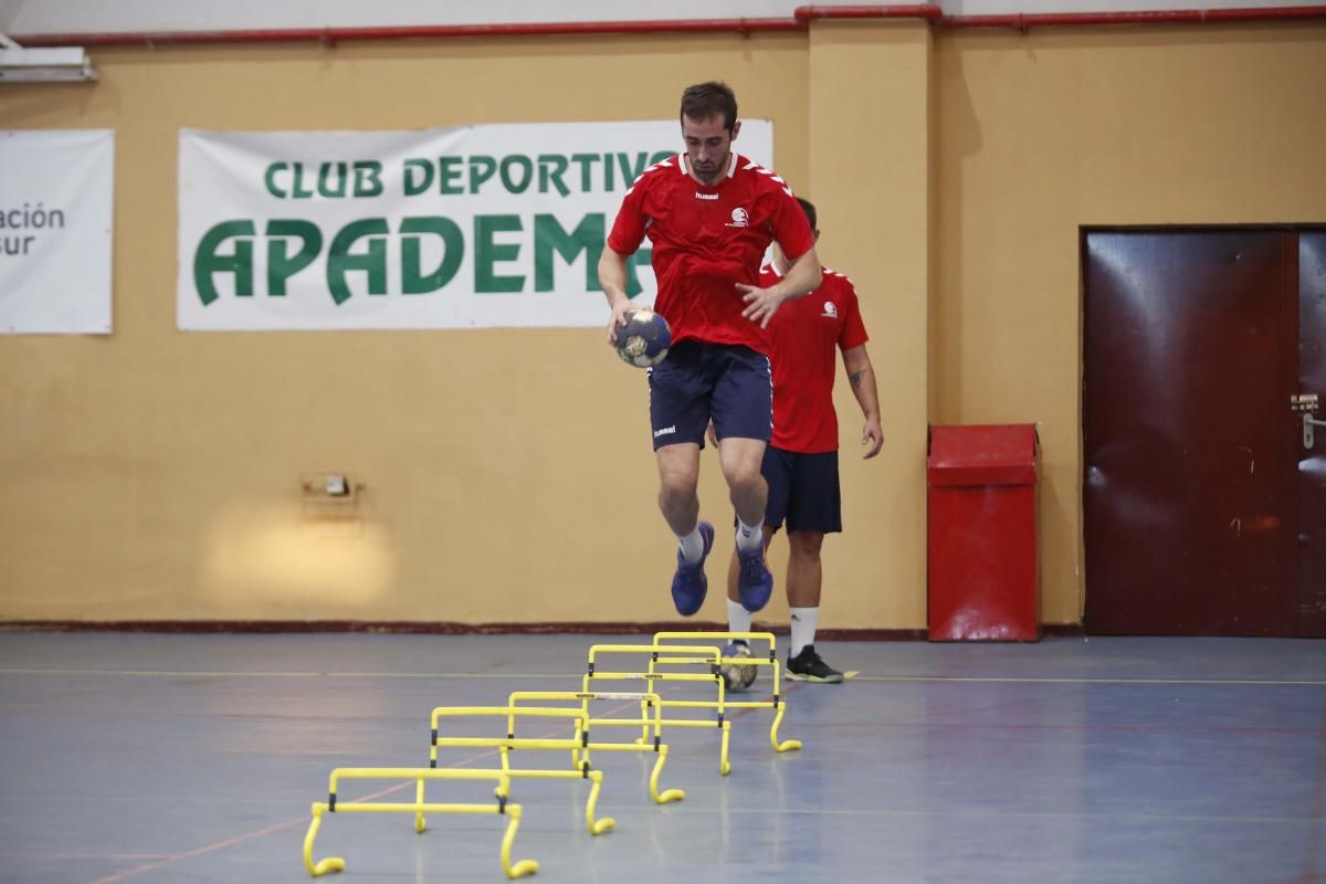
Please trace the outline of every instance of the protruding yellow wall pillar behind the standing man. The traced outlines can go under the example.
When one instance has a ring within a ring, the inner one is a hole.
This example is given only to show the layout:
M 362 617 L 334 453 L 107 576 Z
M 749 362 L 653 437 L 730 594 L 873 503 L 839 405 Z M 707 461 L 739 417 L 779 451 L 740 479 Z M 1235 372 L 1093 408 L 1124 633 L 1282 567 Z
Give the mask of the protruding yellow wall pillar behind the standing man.
M 849 606 L 845 626 L 926 623 L 930 53 L 924 23 L 810 32 L 818 253 L 857 286 L 884 429 L 883 453 L 862 461 L 861 410 L 838 384 L 846 533 L 825 542 L 823 598 L 826 615 Z

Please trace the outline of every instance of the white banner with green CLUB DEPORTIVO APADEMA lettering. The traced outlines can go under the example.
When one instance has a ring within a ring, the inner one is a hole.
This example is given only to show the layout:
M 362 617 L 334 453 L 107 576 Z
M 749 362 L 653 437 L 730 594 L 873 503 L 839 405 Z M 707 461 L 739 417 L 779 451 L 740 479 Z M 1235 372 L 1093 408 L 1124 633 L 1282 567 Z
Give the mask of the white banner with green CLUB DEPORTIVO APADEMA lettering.
M 773 156 L 773 123 L 739 152 Z M 179 326 L 597 326 L 626 188 L 678 122 L 399 133 L 180 131 Z M 633 297 L 654 300 L 646 243 Z

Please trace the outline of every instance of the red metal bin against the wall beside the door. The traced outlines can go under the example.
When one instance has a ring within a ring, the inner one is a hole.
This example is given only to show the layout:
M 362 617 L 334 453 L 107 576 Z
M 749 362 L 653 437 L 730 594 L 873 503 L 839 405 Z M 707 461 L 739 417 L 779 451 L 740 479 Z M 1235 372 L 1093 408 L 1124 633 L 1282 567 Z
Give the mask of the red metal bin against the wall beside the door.
M 931 641 L 1037 641 L 1036 424 L 931 427 Z

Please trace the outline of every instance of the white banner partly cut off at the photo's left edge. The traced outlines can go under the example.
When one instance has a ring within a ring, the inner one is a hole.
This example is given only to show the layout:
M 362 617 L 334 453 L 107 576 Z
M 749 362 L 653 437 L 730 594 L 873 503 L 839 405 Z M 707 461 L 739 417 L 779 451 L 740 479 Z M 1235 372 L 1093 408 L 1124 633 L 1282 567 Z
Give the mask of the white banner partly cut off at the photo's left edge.
M 0 131 L 0 333 L 110 334 L 115 133 Z

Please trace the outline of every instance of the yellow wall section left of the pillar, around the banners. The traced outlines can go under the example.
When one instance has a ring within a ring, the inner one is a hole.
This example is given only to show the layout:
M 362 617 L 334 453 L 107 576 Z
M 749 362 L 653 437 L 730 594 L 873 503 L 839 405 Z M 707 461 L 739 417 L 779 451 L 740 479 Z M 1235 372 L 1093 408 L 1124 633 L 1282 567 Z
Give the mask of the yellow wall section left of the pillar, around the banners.
M 643 372 L 593 329 L 176 331 L 178 130 L 668 119 L 682 87 L 720 77 L 744 115 L 776 121 L 796 182 L 804 36 L 106 50 L 95 64 L 94 86 L 0 93 L 0 127 L 117 130 L 115 334 L 0 339 L 0 616 L 676 616 Z M 715 467 L 705 512 L 721 522 Z M 366 482 L 362 520 L 304 518 L 306 470 Z M 725 615 L 721 594 L 704 615 Z

